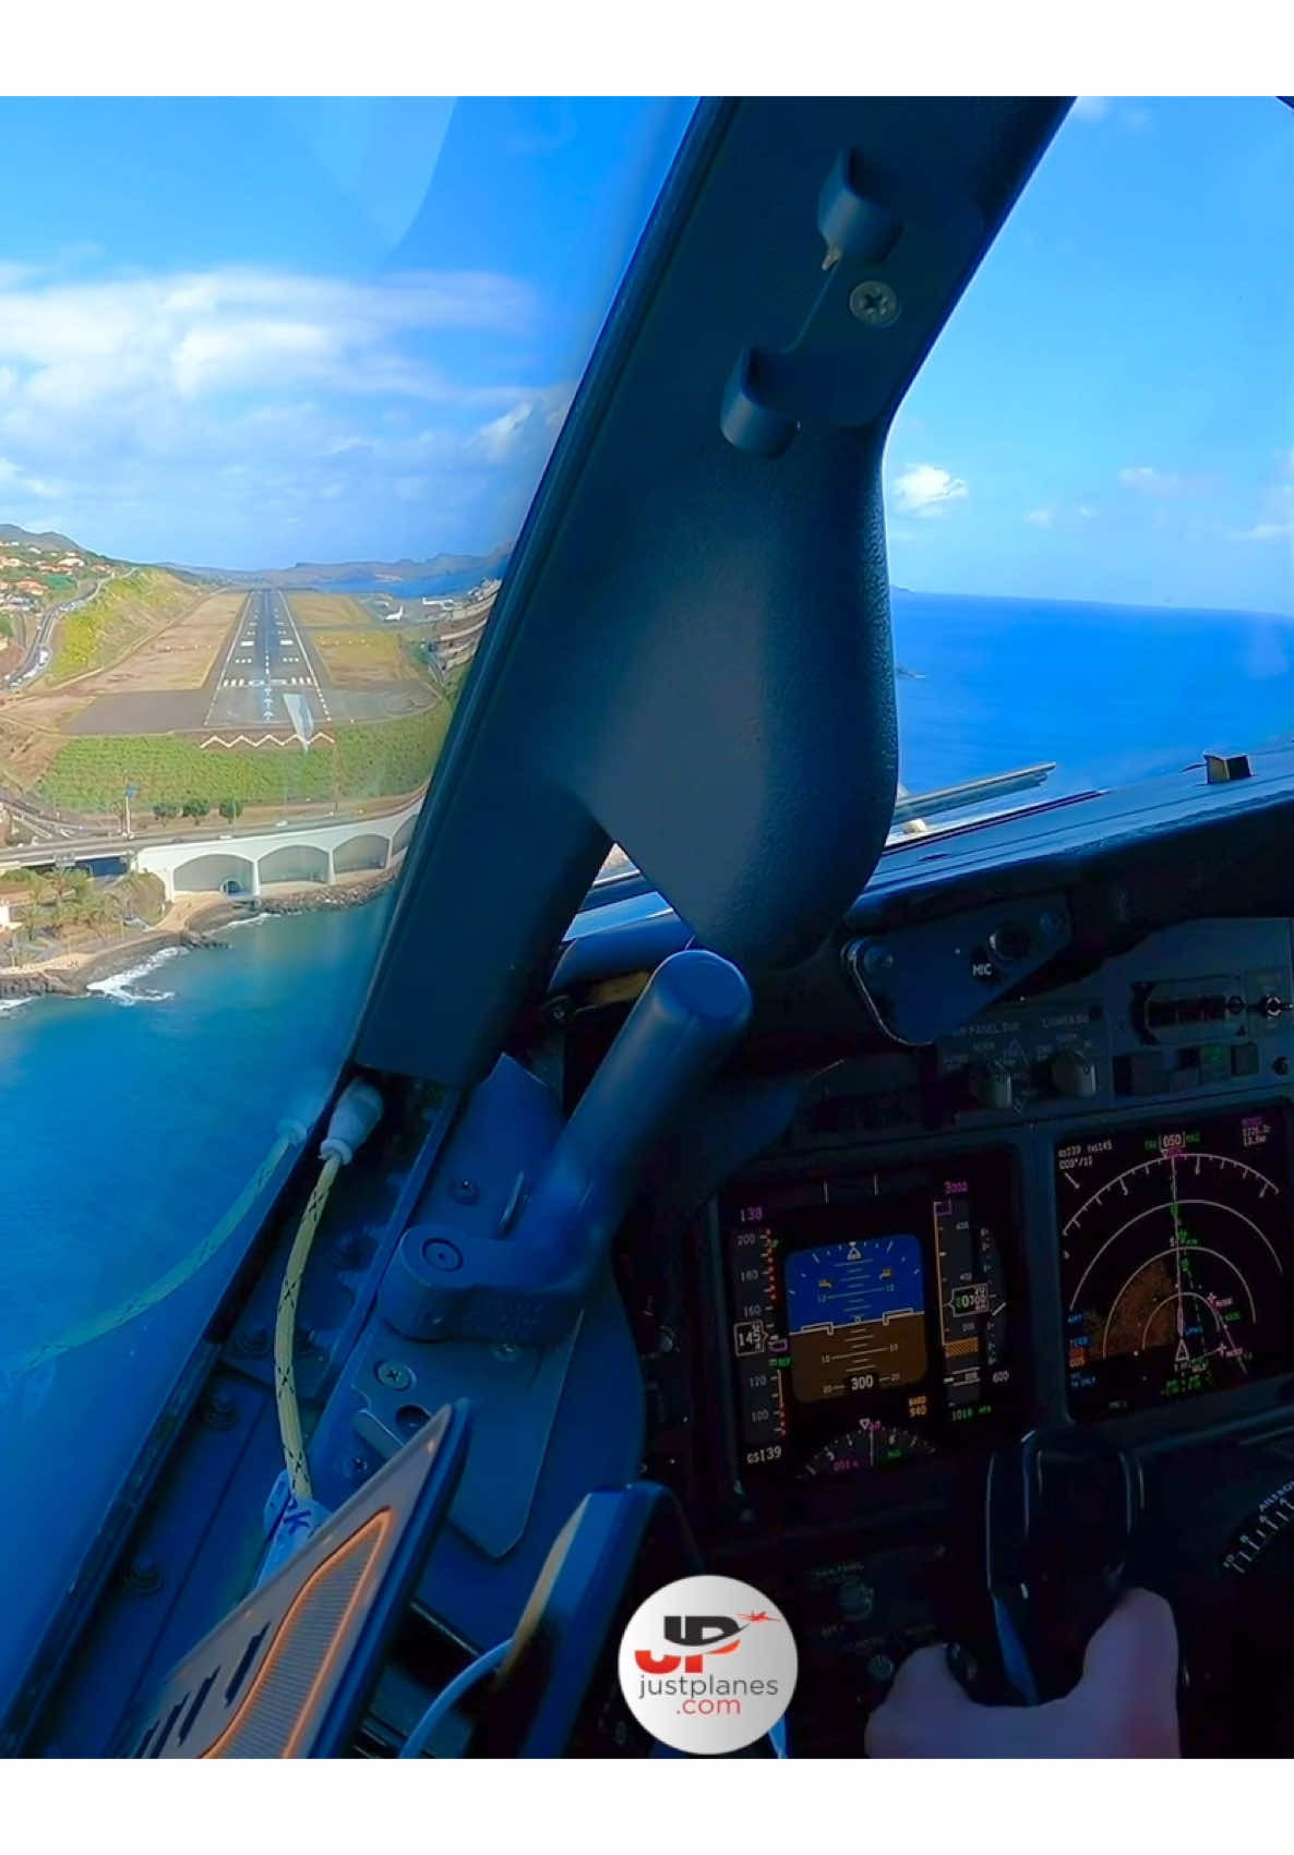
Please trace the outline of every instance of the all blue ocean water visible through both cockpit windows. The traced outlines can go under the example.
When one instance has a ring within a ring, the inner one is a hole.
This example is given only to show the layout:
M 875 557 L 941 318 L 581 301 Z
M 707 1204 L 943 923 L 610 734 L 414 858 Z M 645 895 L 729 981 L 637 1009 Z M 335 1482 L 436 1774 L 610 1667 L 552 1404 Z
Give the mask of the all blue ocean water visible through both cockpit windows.
M 910 790 L 1056 761 L 1049 792 L 1294 731 L 1294 620 L 893 597 Z M 91 1000 L 0 1011 L 0 1695 L 72 1577 L 234 1263 L 58 1356 L 147 1291 L 342 1063 L 392 896 L 264 918 Z

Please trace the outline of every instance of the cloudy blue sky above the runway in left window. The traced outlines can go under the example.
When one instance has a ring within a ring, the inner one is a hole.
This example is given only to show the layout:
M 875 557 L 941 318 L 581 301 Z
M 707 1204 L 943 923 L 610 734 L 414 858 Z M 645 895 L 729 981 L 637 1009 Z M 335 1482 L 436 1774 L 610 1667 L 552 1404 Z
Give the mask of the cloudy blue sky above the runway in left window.
M 689 115 L 6 102 L 0 521 L 245 568 L 511 540 Z

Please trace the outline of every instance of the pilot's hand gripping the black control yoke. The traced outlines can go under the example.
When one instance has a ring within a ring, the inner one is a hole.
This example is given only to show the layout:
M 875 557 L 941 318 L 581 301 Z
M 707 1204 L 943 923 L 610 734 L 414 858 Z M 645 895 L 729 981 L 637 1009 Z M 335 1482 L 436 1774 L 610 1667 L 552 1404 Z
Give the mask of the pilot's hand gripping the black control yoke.
M 941 1645 L 917 1649 L 867 1723 L 873 1759 L 1179 1759 L 1177 1629 L 1127 1592 L 1088 1644 L 1082 1679 L 1043 1707 L 978 1707 Z

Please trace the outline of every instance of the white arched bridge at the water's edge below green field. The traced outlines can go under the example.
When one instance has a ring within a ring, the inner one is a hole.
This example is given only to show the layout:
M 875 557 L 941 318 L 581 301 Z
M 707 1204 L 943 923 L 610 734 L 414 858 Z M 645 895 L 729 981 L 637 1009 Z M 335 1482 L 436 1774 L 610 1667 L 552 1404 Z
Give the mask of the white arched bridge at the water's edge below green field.
M 293 820 L 275 831 L 139 844 L 132 861 L 137 870 L 162 877 L 167 902 L 210 890 L 258 896 L 271 883 L 338 883 L 368 870 L 386 870 L 405 855 L 416 822 L 418 803 L 390 818 L 351 818 L 345 824 Z

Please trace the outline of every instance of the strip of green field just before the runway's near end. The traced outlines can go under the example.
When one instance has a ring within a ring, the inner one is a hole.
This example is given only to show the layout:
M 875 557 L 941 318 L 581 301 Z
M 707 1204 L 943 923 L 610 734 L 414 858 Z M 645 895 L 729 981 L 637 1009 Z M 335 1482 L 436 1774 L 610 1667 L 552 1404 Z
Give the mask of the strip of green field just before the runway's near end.
M 241 800 L 290 805 L 308 800 L 399 798 L 431 775 L 449 707 L 436 703 L 397 722 L 342 723 L 336 746 L 199 748 L 176 735 L 87 735 L 69 740 L 37 792 L 63 811 L 115 812 L 128 785 L 136 811 L 149 805 Z

